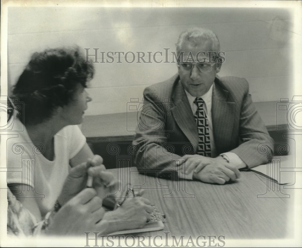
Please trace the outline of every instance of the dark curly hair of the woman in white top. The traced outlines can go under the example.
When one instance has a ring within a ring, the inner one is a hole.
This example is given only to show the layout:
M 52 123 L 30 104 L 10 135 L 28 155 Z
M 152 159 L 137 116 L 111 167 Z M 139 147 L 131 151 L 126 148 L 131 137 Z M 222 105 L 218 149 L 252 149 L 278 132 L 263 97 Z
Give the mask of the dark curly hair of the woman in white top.
M 79 47 L 35 52 L 13 89 L 13 97 L 24 102 L 23 124 L 39 124 L 49 119 L 56 108 L 72 101 L 80 83 L 92 79 L 94 67 Z

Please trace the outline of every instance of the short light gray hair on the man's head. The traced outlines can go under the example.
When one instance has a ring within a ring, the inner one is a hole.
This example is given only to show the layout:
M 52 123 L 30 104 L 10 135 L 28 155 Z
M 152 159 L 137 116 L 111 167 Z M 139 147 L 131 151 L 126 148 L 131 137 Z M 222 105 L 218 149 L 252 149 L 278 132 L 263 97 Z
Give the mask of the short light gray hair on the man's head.
M 193 44 L 198 45 L 203 40 L 210 40 L 212 43 L 211 51 L 219 52 L 220 43 L 217 35 L 212 30 L 200 27 L 193 27 L 182 32 L 179 35 L 178 41 L 175 44 L 177 55 L 179 55 L 179 53 L 181 52 L 182 44 L 184 42 L 192 42 Z

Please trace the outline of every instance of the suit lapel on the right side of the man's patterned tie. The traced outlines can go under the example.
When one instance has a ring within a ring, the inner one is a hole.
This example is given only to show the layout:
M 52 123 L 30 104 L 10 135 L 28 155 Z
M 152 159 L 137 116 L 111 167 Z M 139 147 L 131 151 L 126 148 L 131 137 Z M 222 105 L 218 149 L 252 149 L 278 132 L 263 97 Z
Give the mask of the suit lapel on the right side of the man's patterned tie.
M 213 134 L 217 152 L 223 147 L 229 147 L 234 125 L 235 102 L 228 102 L 229 92 L 220 86 L 220 80 L 215 78 L 212 95 Z

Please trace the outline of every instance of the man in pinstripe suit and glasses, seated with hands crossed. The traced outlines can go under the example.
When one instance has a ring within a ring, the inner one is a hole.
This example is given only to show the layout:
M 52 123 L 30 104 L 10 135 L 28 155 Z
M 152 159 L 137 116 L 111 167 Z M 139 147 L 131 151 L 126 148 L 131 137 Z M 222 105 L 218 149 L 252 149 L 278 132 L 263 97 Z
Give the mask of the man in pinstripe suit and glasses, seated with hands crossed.
M 273 140 L 247 81 L 217 76 L 217 36 L 192 28 L 181 33 L 176 52 L 178 74 L 144 90 L 133 140 L 140 147 L 134 158 L 138 170 L 225 184 L 239 177 L 239 169 L 265 163 L 257 147 Z

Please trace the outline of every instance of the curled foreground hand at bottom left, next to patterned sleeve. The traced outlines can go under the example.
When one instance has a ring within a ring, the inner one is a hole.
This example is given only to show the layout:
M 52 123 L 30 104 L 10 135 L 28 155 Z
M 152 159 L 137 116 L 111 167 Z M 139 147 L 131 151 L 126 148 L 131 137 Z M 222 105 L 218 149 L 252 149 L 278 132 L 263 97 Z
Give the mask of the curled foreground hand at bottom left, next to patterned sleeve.
M 84 235 L 84 232 L 101 232 L 104 226 L 102 200 L 92 188 L 86 188 L 70 199 L 50 219 L 48 235 Z

